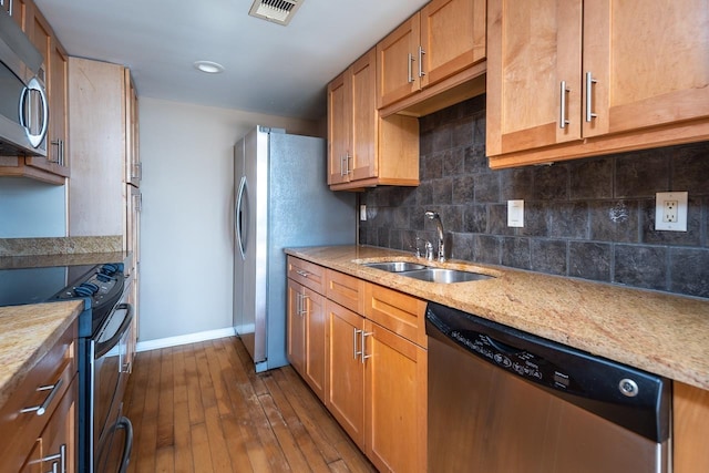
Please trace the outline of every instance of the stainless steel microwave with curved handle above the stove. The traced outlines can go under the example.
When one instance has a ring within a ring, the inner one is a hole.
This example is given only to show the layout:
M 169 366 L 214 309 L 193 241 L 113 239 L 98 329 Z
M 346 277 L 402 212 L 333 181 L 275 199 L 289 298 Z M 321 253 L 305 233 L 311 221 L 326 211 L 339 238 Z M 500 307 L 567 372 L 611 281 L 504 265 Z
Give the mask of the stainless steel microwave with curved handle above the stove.
M 47 156 L 42 61 L 14 20 L 0 11 L 0 155 Z

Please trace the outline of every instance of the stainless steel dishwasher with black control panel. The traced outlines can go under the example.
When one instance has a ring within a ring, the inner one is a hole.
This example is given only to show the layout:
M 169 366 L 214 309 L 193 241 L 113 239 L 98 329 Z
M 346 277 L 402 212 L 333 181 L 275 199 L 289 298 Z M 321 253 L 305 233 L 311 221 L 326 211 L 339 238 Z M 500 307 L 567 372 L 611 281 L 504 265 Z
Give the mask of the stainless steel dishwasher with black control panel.
M 670 472 L 670 382 L 430 302 L 429 469 Z

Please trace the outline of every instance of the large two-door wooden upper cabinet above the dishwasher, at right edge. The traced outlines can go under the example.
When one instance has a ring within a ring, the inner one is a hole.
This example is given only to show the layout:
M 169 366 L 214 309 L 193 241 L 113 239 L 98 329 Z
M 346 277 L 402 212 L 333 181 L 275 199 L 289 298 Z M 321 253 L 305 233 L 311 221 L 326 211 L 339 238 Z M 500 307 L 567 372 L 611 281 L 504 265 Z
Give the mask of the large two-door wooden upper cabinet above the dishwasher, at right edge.
M 707 0 L 487 8 L 491 167 L 709 137 Z

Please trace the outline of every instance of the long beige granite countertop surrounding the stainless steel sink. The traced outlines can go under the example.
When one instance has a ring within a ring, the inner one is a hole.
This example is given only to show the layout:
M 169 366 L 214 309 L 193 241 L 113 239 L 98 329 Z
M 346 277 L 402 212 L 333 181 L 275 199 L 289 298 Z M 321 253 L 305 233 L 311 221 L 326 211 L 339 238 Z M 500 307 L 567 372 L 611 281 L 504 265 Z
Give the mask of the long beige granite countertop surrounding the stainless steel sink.
M 467 261 L 428 266 L 474 269 L 492 279 L 425 282 L 359 263 L 418 261 L 411 253 L 368 246 L 288 248 L 308 261 L 454 307 L 656 374 L 709 389 L 709 300 Z

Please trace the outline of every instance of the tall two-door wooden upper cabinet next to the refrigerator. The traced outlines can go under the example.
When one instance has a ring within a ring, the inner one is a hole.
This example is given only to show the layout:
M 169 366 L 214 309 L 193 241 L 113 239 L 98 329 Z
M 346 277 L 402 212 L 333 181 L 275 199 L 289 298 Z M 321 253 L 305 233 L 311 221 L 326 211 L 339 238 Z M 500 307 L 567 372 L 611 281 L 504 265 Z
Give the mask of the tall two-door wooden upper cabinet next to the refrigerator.
M 371 49 L 328 84 L 328 184 L 333 191 L 419 184 L 419 122 L 381 119 Z

